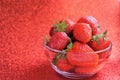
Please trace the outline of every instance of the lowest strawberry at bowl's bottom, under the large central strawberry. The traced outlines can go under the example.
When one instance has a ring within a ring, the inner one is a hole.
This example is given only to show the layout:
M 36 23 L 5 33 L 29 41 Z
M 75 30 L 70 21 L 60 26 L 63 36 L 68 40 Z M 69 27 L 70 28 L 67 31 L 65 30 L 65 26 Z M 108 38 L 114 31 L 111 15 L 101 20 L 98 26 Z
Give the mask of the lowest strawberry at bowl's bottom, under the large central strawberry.
M 76 67 L 74 72 L 78 74 L 91 74 L 96 72 L 97 67 Z

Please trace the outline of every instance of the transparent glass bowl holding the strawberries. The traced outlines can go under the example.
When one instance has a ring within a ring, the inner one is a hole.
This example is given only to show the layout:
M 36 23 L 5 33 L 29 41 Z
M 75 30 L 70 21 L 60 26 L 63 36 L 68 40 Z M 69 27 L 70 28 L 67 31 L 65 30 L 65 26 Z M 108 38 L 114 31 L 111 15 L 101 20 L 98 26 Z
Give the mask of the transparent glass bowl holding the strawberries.
M 49 46 L 47 46 L 46 44 L 44 44 L 44 46 L 50 50 L 50 51 L 53 51 L 55 52 L 56 54 L 57 53 L 61 53 L 61 54 L 64 54 L 65 52 L 62 52 L 62 51 L 59 51 L 59 50 L 55 50 L 55 49 L 52 49 L 50 48 Z M 93 76 L 94 74 L 96 74 L 99 70 L 102 69 L 102 67 L 105 65 L 105 63 L 107 62 L 110 54 L 111 54 L 111 50 L 112 50 L 112 43 L 110 43 L 110 45 L 106 48 L 106 49 L 103 49 L 103 50 L 100 50 L 100 51 L 95 51 L 94 53 L 95 54 L 98 54 L 99 55 L 99 61 L 98 61 L 98 64 L 97 66 L 92 69 L 89 73 L 86 73 L 86 74 L 78 74 L 78 73 L 73 73 L 73 72 L 66 72 L 66 71 L 62 71 L 60 70 L 59 68 L 57 68 L 57 66 L 55 66 L 53 63 L 52 63 L 52 58 L 50 58 L 50 54 L 49 53 L 46 53 L 47 56 L 48 56 L 48 60 L 50 61 L 51 63 L 51 67 L 60 75 L 66 77 L 66 78 L 70 78 L 70 79 L 85 79 L 85 78 L 88 78 L 90 76 Z

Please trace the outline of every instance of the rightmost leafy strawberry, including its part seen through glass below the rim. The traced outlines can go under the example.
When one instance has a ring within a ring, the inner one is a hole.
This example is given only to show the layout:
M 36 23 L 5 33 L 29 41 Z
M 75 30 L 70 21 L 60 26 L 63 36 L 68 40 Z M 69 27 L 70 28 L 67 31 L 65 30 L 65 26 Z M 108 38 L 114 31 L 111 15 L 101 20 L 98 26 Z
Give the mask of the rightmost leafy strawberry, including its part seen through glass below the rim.
M 92 40 L 88 43 L 92 49 L 95 51 L 103 50 L 110 46 L 110 40 L 108 40 L 106 36 L 107 32 L 102 34 L 98 34 L 92 37 Z M 101 52 L 98 54 L 100 59 L 104 59 L 110 55 L 110 50 Z

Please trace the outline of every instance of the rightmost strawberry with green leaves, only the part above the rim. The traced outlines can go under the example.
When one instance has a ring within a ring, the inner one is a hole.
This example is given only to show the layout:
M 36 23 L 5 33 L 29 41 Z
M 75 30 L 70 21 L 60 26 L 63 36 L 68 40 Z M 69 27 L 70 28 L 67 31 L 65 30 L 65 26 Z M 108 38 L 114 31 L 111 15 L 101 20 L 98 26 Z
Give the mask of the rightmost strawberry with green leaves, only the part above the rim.
M 107 32 L 93 36 L 92 40 L 89 42 L 89 45 L 95 50 L 102 50 L 107 48 L 110 45 L 110 41 L 105 38 Z

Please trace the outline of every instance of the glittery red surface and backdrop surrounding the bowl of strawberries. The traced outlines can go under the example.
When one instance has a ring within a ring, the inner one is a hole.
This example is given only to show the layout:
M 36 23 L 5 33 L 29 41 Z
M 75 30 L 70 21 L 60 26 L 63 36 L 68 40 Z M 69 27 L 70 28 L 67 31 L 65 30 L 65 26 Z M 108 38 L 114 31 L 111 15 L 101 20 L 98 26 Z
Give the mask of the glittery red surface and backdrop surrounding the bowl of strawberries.
M 43 47 L 54 20 L 92 15 L 113 43 L 109 62 L 86 80 L 120 80 L 118 0 L 0 0 L 0 80 L 69 80 L 49 65 Z

